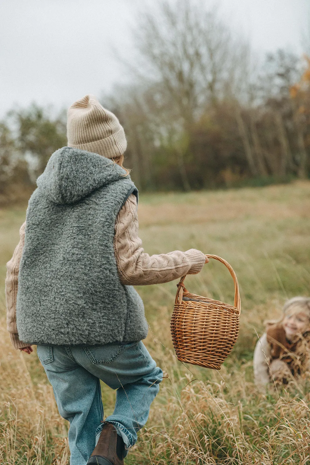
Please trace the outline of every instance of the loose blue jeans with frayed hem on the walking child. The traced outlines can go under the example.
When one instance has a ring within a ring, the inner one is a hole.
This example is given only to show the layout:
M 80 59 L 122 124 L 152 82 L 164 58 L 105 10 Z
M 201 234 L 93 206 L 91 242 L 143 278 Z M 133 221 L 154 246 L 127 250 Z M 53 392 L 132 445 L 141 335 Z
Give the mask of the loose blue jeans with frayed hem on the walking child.
M 163 372 L 144 344 L 38 345 L 60 415 L 70 422 L 70 465 L 85 465 L 103 427 L 100 379 L 117 389 L 112 423 L 128 450 L 145 425 Z

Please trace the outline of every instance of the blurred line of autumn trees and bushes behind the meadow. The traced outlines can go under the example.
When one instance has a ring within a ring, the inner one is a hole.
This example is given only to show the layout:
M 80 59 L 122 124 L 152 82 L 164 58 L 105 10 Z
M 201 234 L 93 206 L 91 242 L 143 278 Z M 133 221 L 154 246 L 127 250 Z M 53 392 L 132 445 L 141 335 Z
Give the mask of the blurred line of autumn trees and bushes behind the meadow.
M 142 191 L 263 185 L 310 172 L 310 58 L 251 47 L 194 0 L 140 14 L 131 82 L 102 97 L 125 128 L 126 166 Z M 35 104 L 0 122 L 0 202 L 28 198 L 66 113 Z

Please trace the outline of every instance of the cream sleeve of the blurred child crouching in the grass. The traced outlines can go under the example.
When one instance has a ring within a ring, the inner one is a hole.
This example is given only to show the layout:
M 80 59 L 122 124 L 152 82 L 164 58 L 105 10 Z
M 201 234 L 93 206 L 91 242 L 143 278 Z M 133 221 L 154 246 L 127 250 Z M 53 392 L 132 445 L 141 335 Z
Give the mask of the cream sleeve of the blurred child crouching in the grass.
M 267 334 L 257 341 L 253 355 L 254 381 L 257 387 L 263 388 L 270 382 L 268 369 L 270 359 L 270 344 L 267 342 Z

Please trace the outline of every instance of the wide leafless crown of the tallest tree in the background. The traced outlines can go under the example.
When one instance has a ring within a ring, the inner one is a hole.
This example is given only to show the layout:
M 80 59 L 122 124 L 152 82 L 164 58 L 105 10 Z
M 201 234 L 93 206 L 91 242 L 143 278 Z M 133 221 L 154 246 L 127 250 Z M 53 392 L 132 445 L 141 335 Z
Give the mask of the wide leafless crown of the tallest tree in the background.
M 216 8 L 189 0 L 162 0 L 156 13 L 141 14 L 134 38 L 140 70 L 162 83 L 187 124 L 224 95 L 247 48 L 233 38 Z

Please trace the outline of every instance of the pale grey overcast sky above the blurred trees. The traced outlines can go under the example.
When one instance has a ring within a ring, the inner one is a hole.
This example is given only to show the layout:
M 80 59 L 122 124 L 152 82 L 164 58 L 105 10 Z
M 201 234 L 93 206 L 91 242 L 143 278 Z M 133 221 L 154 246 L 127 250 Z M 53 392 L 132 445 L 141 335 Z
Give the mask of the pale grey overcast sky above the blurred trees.
M 171 0 L 173 1 L 173 0 Z M 156 0 L 0 0 L 0 117 L 13 106 L 69 106 L 126 79 L 135 14 Z M 205 0 L 206 5 L 214 1 Z M 261 53 L 302 53 L 309 0 L 222 0 L 220 10 Z

